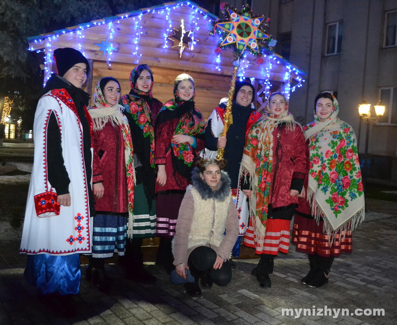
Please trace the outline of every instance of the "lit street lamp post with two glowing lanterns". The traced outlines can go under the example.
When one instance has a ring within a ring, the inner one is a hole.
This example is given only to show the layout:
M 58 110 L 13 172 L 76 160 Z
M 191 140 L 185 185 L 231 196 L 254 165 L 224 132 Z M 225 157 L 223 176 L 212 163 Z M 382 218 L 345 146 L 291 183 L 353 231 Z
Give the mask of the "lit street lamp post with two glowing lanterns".
M 362 174 L 364 192 L 366 191 L 367 169 L 368 169 L 369 125 L 370 124 L 375 125 L 380 120 L 383 114 L 385 114 L 386 107 L 385 105 L 382 105 L 381 101 L 379 101 L 377 105 L 374 105 L 374 109 L 376 116 L 371 117 L 371 104 L 368 104 L 365 98 L 363 102 L 360 105 L 358 105 L 358 114 L 360 114 L 358 143 L 360 143 L 361 121 L 364 121 L 364 123 L 367 125 L 367 129 L 365 132 L 364 172 Z

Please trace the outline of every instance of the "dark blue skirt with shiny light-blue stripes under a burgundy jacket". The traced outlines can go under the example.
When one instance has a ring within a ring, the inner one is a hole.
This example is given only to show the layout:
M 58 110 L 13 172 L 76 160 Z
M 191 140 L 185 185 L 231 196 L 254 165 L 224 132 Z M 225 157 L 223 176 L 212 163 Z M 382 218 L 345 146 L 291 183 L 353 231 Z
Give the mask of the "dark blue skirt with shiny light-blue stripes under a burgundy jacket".
M 120 215 L 97 214 L 93 217 L 92 257 L 123 256 L 126 251 L 127 218 Z

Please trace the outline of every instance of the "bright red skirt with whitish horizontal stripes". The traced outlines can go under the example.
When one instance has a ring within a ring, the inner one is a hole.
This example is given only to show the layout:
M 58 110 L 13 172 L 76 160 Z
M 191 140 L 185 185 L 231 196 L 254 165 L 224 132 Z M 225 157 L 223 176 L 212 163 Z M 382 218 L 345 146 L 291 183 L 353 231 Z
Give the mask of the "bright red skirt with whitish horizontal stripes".
M 267 219 L 264 244 L 257 241 L 257 234 L 252 224 L 252 218 L 248 225 L 243 244 L 255 248 L 256 254 L 277 255 L 278 252 L 287 254 L 290 240 L 290 221 L 281 219 Z

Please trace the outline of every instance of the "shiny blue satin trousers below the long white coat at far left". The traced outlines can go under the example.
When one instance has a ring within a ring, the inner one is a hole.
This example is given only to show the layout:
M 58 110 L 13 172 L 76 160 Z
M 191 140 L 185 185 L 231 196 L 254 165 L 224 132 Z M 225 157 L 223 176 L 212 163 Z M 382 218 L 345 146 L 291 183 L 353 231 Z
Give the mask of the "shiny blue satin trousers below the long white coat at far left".
M 80 289 L 80 254 L 28 255 L 25 277 L 39 294 L 77 294 Z

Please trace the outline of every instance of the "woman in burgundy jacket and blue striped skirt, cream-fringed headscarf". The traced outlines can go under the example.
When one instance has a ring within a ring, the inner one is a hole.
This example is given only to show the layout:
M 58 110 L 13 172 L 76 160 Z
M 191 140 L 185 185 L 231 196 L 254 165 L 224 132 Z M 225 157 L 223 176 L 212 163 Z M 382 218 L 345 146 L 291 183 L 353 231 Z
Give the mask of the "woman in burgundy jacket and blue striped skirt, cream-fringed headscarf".
M 93 217 L 92 256 L 86 270 L 99 290 L 107 291 L 104 259 L 113 253 L 123 256 L 127 239 L 127 216 L 132 216 L 134 170 L 132 139 L 127 118 L 122 114 L 120 83 L 102 78 L 95 87 L 94 105 L 88 112 L 93 125 Z

